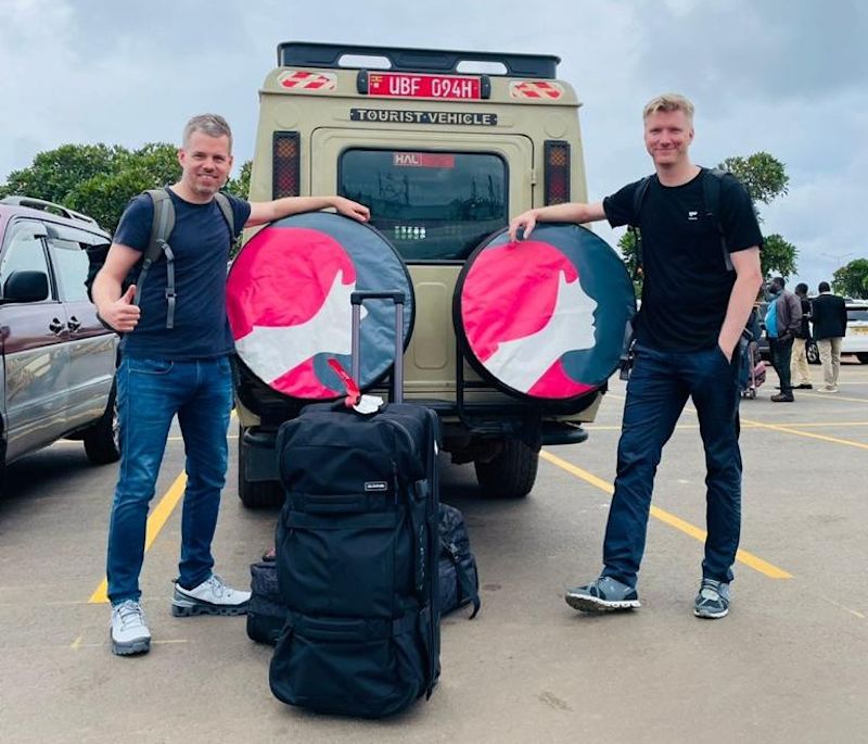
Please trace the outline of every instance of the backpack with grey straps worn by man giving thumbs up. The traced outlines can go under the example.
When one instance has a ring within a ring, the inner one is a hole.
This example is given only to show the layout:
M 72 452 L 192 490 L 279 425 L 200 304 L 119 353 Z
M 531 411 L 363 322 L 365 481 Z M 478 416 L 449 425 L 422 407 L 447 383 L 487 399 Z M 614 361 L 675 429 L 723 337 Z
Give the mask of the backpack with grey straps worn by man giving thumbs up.
M 132 270 L 127 275 L 127 278 L 120 285 L 122 294 L 127 291 L 130 285 L 136 285 L 136 297 L 132 304 L 138 306 L 142 297 L 142 286 L 148 277 L 148 272 L 159 256 L 166 257 L 166 302 L 168 308 L 166 311 L 166 328 L 175 328 L 175 306 L 178 295 L 175 293 L 175 253 L 168 243 L 169 236 L 175 229 L 175 205 L 171 203 L 167 189 L 149 189 L 145 193 L 151 198 L 154 204 L 154 217 L 151 220 L 151 238 L 148 248 L 144 250 L 141 260 L 132 267 Z M 217 206 L 220 207 L 220 213 L 224 215 L 227 225 L 229 226 L 229 239 L 234 240 L 234 214 L 232 213 L 232 205 L 226 194 L 219 191 L 214 194 Z M 105 258 L 108 256 L 110 244 L 103 243 L 102 245 L 91 245 L 87 249 L 88 252 L 88 276 L 85 279 L 85 287 L 88 290 L 88 299 L 93 302 L 91 290 L 93 288 L 93 280 L 97 278 L 100 269 L 105 264 Z M 102 323 L 102 319 L 100 320 Z M 103 325 L 105 325 L 103 323 Z M 107 327 L 107 326 L 106 326 Z

